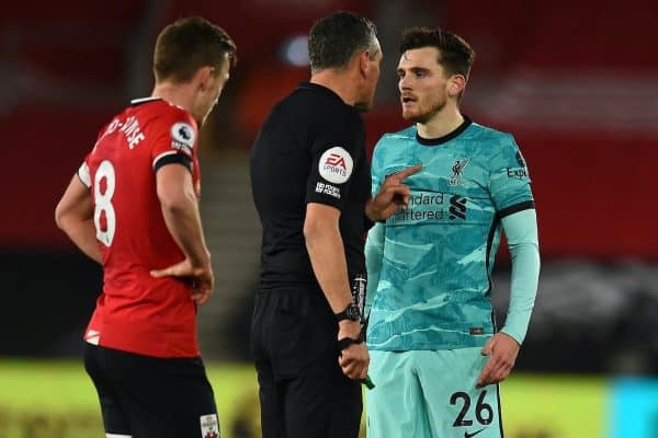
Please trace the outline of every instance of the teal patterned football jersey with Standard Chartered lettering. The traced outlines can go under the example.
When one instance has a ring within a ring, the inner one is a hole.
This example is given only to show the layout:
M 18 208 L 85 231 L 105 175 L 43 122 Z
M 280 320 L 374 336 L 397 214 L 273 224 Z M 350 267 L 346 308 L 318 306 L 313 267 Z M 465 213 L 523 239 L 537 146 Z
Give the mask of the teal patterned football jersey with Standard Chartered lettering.
M 534 208 L 525 161 L 511 135 L 469 119 L 433 140 L 412 126 L 377 142 L 373 194 L 387 175 L 418 163 L 422 170 L 405 180 L 408 209 L 386 221 L 378 281 L 368 285 L 368 348 L 483 346 L 495 331 L 500 220 Z

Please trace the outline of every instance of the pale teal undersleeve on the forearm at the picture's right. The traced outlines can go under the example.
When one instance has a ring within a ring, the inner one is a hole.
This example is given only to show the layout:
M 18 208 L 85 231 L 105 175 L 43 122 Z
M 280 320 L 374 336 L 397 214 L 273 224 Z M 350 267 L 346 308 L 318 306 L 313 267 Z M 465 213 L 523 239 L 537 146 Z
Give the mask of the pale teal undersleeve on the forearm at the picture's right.
M 502 218 L 502 229 L 512 258 L 510 307 L 501 332 L 523 343 L 534 307 L 540 280 L 540 243 L 534 209 Z

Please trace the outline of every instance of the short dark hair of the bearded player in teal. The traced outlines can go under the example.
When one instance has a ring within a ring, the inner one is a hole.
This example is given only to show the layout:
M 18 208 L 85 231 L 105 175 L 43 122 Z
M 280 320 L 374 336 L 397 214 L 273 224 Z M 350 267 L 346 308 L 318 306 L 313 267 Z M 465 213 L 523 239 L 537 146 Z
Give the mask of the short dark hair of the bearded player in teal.
M 402 33 L 400 54 L 413 48 L 435 47 L 436 60 L 449 76 L 462 74 L 468 79 L 475 51 L 460 35 L 440 27 L 410 27 Z

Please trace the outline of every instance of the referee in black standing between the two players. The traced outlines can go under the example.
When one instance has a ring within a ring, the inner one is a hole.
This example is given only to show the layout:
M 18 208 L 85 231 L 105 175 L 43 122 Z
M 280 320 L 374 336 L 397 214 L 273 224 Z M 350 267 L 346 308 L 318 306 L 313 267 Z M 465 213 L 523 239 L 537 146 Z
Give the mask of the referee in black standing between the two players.
M 263 228 L 251 326 L 263 438 L 359 435 L 370 356 L 351 287 L 365 278 L 371 221 L 406 207 L 401 181 L 420 169 L 389 177 L 370 199 L 360 112 L 379 78 L 374 24 L 327 15 L 310 30 L 308 51 L 310 81 L 274 106 L 251 153 Z

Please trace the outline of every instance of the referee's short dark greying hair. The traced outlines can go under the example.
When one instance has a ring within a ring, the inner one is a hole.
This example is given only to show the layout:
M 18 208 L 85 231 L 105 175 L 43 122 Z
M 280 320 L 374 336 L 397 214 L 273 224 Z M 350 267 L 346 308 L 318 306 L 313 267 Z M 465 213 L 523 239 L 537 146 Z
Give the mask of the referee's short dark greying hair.
M 358 51 L 370 51 L 374 59 L 379 46 L 377 30 L 368 19 L 338 11 L 318 20 L 308 35 L 310 71 L 347 67 Z

